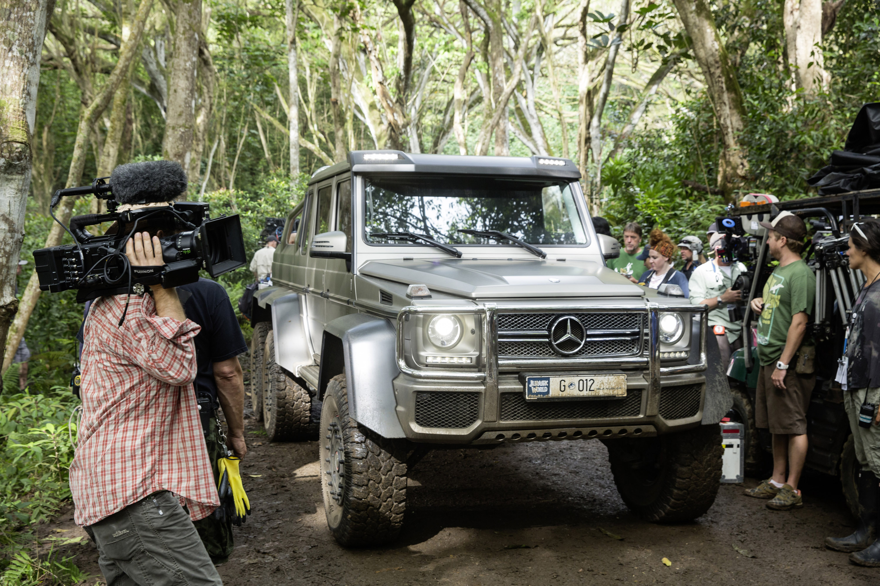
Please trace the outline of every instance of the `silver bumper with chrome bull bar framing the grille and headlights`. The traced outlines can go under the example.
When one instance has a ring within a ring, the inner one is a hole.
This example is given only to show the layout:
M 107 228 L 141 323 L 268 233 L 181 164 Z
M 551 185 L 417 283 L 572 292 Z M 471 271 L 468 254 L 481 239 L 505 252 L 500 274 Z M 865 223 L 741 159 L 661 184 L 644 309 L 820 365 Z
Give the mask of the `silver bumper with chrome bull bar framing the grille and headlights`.
M 547 307 L 505 307 L 522 312 Z M 705 306 L 646 302 L 641 307 L 566 307 L 566 311 L 647 314 L 644 349 L 619 358 L 497 358 L 497 308 L 487 303 L 471 312 L 483 315 L 485 368 L 482 372 L 417 370 L 405 356 L 407 315 L 464 313 L 460 307 L 405 307 L 398 321 L 398 365 L 394 380 L 397 416 L 407 438 L 441 444 L 494 444 L 541 439 L 645 437 L 700 424 L 706 396 Z M 699 315 L 693 320 L 691 360 L 663 366 L 657 322 L 662 311 Z M 699 328 L 698 323 L 699 322 Z M 699 333 L 698 333 L 699 332 Z M 627 398 L 570 402 L 525 402 L 520 372 L 625 373 Z

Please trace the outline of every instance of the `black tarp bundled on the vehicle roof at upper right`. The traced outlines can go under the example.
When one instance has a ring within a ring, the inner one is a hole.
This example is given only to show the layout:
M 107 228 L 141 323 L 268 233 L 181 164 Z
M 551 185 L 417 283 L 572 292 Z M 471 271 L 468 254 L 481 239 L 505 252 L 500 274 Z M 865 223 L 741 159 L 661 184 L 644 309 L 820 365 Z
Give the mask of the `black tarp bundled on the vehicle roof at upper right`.
M 843 150 L 833 151 L 829 164 L 807 183 L 817 187 L 819 195 L 880 187 L 880 102 L 862 106 Z

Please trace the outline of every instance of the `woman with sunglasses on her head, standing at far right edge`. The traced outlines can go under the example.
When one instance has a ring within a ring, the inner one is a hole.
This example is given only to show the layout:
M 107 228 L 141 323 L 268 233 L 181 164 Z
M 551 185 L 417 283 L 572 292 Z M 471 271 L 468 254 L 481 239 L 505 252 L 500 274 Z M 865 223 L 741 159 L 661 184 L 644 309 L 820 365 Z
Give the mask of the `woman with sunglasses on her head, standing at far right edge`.
M 853 552 L 849 559 L 860 566 L 880 567 L 880 221 L 856 222 L 849 236 L 849 267 L 866 281 L 853 305 L 837 381 L 861 465 L 860 517 L 852 535 L 825 538 L 825 546 Z

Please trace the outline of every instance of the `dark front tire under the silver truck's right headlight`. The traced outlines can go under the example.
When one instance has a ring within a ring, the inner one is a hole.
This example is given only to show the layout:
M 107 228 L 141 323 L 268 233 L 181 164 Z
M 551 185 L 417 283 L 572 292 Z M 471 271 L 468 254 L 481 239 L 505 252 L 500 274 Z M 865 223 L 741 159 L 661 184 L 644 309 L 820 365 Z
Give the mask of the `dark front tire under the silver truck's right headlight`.
M 700 425 L 693 430 L 673 433 L 667 442 L 666 469 L 659 494 L 652 503 L 634 503 L 627 496 L 627 473 L 621 470 L 609 451 L 614 483 L 623 502 L 642 518 L 655 523 L 678 523 L 700 517 L 715 503 L 721 483 L 721 428 Z M 613 440 L 612 440 L 613 441 Z

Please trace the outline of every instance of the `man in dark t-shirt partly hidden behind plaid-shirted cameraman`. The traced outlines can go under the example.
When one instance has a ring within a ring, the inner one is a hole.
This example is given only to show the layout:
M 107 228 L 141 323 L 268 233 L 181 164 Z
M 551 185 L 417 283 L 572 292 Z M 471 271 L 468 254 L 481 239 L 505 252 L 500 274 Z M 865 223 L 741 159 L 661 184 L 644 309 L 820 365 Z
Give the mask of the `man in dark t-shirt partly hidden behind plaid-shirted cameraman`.
M 217 459 L 223 458 L 220 438 L 216 434 L 216 409 L 223 409 L 226 418 L 226 445 L 239 458 L 247 452 L 245 445 L 245 382 L 238 355 L 247 351 L 229 295 L 223 286 L 209 279 L 177 288 L 180 304 L 187 318 L 202 326 L 194 337 L 198 373 L 194 387 L 201 408 L 205 445 L 219 480 Z M 220 521 L 213 515 L 195 521 L 195 528 L 215 564 L 223 563 L 232 553 L 231 520 Z

